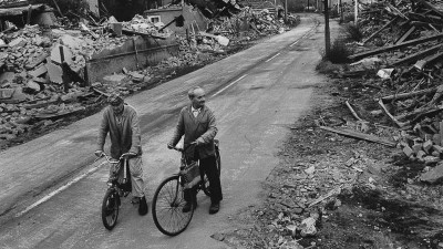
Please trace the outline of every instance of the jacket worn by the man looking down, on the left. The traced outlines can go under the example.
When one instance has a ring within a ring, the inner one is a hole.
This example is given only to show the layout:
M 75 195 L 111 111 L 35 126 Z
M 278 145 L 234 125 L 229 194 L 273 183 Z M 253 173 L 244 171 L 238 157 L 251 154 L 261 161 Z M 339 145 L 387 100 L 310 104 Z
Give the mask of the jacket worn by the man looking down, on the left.
M 111 106 L 103 113 L 99 128 L 97 149 L 103 151 L 107 133 L 111 138 L 111 156 L 119 158 L 124 153 L 142 155 L 142 137 L 138 127 L 138 116 L 130 105 L 124 105 L 122 113 L 122 132 L 119 131 L 117 121 Z

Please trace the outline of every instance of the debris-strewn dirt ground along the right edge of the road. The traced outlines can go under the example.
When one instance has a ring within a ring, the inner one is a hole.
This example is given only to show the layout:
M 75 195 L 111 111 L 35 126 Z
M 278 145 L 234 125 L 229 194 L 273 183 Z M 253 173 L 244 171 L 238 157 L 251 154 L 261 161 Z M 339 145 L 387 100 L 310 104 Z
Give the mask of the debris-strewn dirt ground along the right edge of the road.
M 356 127 L 344 104 L 352 98 L 360 114 L 379 122 L 373 133 L 390 138 L 400 132 L 383 116 L 370 116 L 379 90 L 362 82 L 316 87 L 316 106 L 289 127 L 280 164 L 264 183 L 262 205 L 238 214 L 238 229 L 215 239 L 233 248 L 443 248 L 443 187 L 418 180 L 424 164 L 399 148 L 318 127 Z M 320 197 L 328 198 L 309 205 Z M 319 217 L 317 232 L 302 236 L 308 217 Z

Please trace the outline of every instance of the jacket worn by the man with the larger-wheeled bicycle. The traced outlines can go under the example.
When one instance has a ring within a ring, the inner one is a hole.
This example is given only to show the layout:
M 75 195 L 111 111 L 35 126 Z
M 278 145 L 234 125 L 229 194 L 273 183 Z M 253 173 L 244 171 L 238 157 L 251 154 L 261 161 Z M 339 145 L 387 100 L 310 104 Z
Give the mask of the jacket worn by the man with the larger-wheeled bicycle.
M 197 115 L 194 117 L 192 106 L 182 108 L 174 136 L 169 144 L 175 146 L 184 135 L 184 147 L 187 148 L 192 142 L 198 139 L 202 144 L 198 146 L 198 156 L 200 159 L 215 155 L 214 137 L 217 135 L 215 116 L 212 110 L 204 105 Z M 195 151 L 189 147 L 186 151 L 188 158 L 194 157 Z

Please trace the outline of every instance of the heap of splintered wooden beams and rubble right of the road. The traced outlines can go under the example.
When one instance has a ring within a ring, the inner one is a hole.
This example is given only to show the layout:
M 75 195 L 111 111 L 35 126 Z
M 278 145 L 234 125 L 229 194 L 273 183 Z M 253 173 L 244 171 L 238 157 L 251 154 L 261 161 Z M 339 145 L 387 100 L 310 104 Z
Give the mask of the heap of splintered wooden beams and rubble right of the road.
M 365 38 L 354 44 L 356 53 L 349 56 L 354 62 L 338 75 L 365 79 L 361 83 L 362 94 L 372 91 L 375 100 L 371 105 L 375 107 L 356 111 L 352 101 L 347 101 L 360 131 L 322 126 L 324 129 L 398 146 L 411 159 L 426 165 L 441 164 L 443 12 L 440 9 L 429 1 L 402 1 L 398 6 L 383 1 L 367 6 L 360 22 Z M 395 126 L 398 131 L 388 139 L 380 138 L 371 128 L 383 126 L 378 123 L 382 116 L 384 125 Z

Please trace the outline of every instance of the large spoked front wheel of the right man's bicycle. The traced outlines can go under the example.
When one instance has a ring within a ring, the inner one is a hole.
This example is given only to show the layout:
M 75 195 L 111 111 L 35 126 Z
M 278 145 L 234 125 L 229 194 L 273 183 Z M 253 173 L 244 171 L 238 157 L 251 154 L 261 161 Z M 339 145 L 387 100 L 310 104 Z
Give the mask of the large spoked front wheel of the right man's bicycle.
M 171 176 L 159 184 L 153 197 L 152 214 L 154 224 L 161 232 L 176 236 L 187 228 L 193 218 L 194 208 L 190 208 L 188 212 L 183 212 L 185 204 L 184 187 L 179 176 Z

